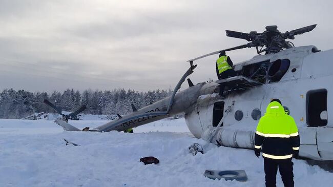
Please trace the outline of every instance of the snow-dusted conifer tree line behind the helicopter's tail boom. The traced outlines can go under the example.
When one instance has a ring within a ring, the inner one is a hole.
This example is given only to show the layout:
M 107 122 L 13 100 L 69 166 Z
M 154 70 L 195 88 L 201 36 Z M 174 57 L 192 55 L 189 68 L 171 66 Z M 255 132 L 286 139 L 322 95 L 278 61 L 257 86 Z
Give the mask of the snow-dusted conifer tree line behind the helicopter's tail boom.
M 15 91 L 11 88 L 4 89 L 0 93 L 0 118 L 19 119 L 34 113 L 55 113 L 52 108 L 45 105 L 44 99 L 48 99 L 63 111 L 75 111 L 81 105 L 86 105 L 84 114 L 103 114 L 112 118 L 117 113 L 120 115 L 131 113 L 131 103 L 140 109 L 170 95 L 172 95 L 171 89 L 148 92 L 131 89 L 126 91 L 123 88 L 112 91 L 88 89 L 83 92 L 66 89 L 63 93 L 53 91 L 49 94 L 25 90 Z

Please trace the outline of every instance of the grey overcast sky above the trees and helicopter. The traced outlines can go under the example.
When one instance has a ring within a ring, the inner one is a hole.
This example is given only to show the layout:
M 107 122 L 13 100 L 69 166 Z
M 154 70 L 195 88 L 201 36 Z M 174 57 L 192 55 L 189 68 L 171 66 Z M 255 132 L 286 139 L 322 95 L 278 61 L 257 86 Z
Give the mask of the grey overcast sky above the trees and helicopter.
M 333 48 L 332 1 L 0 0 L 0 89 L 173 88 L 186 60 L 246 43 L 225 30 L 281 32 L 318 24 L 296 46 Z M 227 53 L 234 63 L 255 49 Z M 218 56 L 190 78 L 216 79 Z M 186 88 L 187 84 L 182 88 Z

